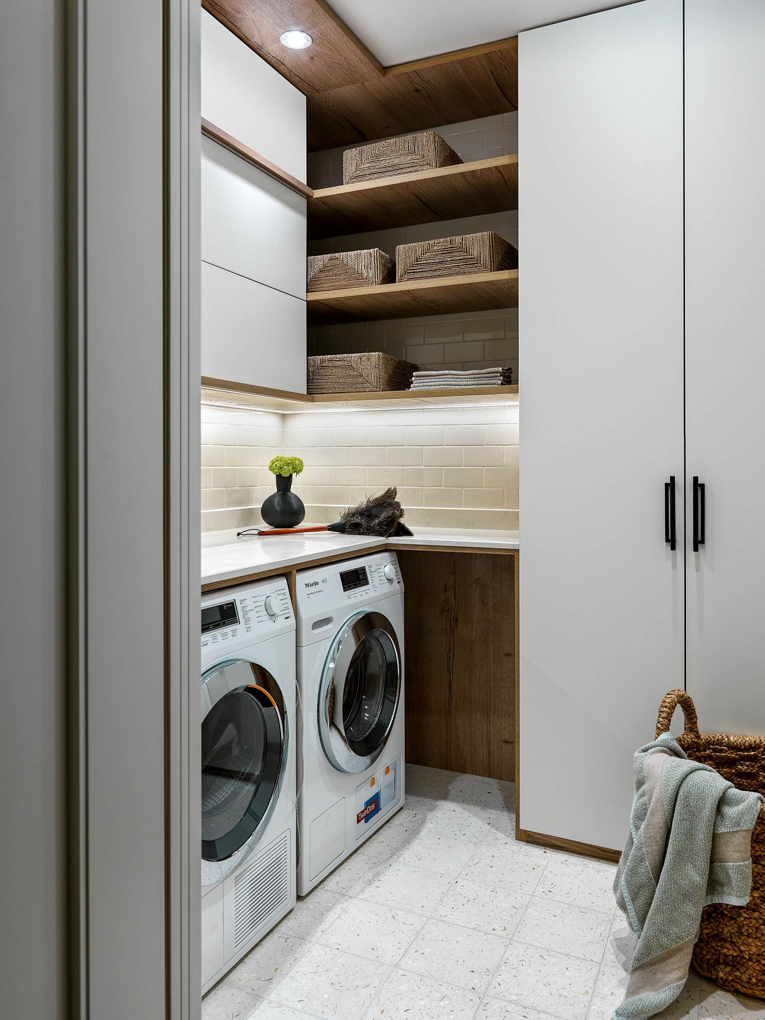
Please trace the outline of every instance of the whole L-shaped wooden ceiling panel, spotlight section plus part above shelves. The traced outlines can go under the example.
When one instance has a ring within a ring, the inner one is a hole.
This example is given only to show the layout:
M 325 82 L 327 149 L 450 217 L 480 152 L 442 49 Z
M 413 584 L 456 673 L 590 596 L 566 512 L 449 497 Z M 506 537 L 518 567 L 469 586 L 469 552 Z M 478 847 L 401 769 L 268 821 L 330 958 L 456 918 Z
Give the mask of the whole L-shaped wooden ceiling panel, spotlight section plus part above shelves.
M 324 0 L 202 0 L 308 99 L 308 149 L 391 138 L 517 109 L 517 39 L 381 67 Z M 290 50 L 278 37 L 313 38 Z

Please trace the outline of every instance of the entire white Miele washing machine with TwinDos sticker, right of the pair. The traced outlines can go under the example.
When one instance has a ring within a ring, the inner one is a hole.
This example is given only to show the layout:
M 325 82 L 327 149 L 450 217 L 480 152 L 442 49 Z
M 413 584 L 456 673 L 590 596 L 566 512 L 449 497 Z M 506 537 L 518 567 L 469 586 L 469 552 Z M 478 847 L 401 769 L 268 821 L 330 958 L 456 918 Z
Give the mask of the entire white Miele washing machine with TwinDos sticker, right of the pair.
M 404 585 L 393 553 L 298 572 L 298 895 L 404 804 Z

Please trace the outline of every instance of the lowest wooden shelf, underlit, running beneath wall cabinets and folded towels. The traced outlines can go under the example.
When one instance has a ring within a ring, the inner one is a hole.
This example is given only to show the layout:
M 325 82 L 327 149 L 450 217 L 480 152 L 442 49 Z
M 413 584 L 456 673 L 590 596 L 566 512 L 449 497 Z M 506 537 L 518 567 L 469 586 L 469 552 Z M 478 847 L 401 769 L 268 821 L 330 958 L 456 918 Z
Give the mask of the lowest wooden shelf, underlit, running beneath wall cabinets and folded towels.
M 270 390 L 248 382 L 202 376 L 202 403 L 280 414 L 312 411 L 382 410 L 479 404 L 517 404 L 517 386 L 462 387 L 452 390 L 394 390 L 386 393 L 322 393 L 314 396 Z

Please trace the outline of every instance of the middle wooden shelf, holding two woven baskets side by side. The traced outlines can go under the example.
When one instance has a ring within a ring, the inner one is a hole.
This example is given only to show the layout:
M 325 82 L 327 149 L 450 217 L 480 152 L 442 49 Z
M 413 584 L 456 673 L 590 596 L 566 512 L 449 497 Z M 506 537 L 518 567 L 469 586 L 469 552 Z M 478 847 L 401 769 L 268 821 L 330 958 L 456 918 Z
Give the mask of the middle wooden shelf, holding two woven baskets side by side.
M 317 291 L 306 303 L 309 325 L 517 308 L 518 270 Z

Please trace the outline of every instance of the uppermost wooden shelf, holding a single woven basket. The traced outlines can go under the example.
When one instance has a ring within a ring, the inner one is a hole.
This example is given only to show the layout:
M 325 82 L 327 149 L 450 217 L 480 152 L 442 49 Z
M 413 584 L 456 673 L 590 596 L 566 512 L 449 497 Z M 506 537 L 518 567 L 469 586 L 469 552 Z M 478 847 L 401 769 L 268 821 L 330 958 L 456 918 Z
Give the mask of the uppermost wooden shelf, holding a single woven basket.
M 496 156 L 339 188 L 308 198 L 308 237 L 411 226 L 518 208 L 518 157 Z

